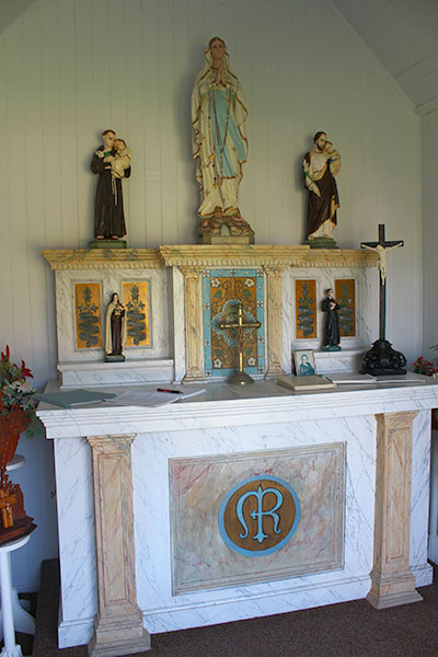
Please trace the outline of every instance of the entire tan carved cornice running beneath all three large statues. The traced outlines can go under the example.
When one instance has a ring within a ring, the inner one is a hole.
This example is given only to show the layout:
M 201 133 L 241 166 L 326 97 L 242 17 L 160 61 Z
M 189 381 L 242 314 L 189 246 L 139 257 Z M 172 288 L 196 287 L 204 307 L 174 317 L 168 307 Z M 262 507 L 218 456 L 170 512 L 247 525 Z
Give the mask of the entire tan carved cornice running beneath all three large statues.
M 163 267 L 374 267 L 377 253 L 254 244 L 164 245 L 158 249 L 45 249 L 51 269 L 157 269 Z

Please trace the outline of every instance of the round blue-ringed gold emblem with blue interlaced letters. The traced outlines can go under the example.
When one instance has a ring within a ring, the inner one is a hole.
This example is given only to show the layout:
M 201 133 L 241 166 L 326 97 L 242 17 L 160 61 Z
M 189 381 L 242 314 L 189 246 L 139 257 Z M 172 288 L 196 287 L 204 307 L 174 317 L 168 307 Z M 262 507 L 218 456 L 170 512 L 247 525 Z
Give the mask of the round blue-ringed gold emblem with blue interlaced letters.
M 234 552 L 262 556 L 286 545 L 299 520 L 300 503 L 293 488 L 262 474 L 229 491 L 219 510 L 219 531 Z

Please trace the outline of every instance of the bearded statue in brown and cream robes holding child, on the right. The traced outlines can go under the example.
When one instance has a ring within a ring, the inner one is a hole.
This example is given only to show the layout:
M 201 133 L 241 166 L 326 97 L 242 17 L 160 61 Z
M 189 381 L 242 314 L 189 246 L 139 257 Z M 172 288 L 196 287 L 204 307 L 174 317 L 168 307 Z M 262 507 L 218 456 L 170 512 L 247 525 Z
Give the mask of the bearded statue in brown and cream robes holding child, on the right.
M 337 223 L 339 196 L 334 176 L 341 170 L 341 155 L 323 131 L 315 134 L 313 143 L 302 163 L 309 193 L 306 243 L 313 249 L 336 249 L 332 233 Z

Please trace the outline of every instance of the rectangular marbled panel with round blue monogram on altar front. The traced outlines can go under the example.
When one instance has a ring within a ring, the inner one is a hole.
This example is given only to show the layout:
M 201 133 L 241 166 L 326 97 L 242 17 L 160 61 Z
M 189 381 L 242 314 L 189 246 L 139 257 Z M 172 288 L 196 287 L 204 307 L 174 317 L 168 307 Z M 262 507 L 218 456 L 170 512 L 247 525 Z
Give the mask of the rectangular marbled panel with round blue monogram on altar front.
M 170 460 L 173 595 L 338 569 L 345 445 Z

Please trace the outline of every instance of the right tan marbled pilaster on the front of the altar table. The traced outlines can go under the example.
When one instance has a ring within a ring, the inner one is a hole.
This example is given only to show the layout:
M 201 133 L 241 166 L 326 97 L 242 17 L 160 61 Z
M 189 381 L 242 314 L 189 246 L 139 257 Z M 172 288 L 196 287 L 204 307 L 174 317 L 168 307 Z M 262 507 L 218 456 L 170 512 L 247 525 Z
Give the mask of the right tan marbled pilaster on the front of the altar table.
M 374 563 L 367 600 L 376 609 L 419 602 L 410 567 L 412 424 L 416 411 L 377 418 Z

